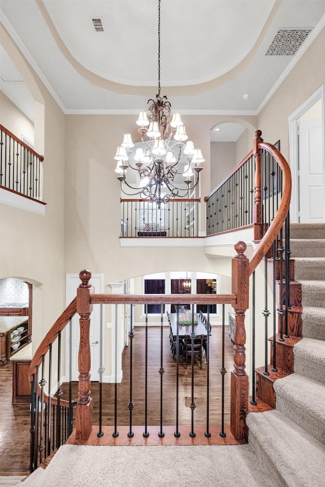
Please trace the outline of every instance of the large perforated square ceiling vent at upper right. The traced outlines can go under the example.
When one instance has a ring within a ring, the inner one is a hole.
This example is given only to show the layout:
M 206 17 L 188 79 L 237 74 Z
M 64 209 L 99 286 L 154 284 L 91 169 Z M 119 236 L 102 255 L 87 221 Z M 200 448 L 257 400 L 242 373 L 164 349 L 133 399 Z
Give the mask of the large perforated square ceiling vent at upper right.
M 279 29 L 266 56 L 293 56 L 312 29 Z

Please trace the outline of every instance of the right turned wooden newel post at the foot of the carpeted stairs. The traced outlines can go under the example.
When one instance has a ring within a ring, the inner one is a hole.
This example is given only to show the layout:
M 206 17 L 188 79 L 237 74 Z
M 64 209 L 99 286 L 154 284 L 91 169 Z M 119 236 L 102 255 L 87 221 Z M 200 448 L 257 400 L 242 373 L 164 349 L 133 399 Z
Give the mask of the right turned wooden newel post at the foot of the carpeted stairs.
M 245 372 L 245 311 L 249 306 L 249 261 L 244 255 L 245 242 L 235 245 L 237 255 L 232 260 L 232 293 L 237 296 L 234 332 L 234 370 L 231 373 L 230 429 L 237 440 L 245 438 L 248 409 L 248 376 Z

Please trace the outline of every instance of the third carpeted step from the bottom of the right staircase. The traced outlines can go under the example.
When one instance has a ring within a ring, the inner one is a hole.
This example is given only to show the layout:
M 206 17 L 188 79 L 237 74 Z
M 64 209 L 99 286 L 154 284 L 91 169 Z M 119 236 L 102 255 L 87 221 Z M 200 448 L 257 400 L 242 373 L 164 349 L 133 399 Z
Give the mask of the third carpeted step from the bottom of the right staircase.
M 295 372 L 325 384 L 325 341 L 303 338 L 294 346 Z

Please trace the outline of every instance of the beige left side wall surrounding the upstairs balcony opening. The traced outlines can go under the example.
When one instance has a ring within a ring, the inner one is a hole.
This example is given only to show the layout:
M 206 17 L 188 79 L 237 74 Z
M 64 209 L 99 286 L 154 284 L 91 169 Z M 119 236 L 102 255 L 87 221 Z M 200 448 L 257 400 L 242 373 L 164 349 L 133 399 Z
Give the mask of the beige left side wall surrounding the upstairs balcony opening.
M 44 154 L 45 216 L 0 205 L 0 277 L 19 277 L 33 286 L 33 349 L 65 308 L 64 270 L 64 114 L 22 57 L 6 31 L 2 43 L 36 100 L 35 149 Z M 1 99 L 1 123 L 18 132 L 29 124 L 16 107 Z M 29 136 L 32 138 L 31 126 Z M 25 134 L 27 137 L 28 135 Z M 28 137 L 29 138 L 29 137 Z

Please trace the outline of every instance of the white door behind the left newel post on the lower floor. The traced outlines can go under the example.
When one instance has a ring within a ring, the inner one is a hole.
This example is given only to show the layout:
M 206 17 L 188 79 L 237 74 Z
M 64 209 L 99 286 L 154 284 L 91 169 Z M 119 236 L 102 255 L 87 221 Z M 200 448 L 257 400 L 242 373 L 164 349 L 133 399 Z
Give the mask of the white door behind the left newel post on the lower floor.
M 103 293 L 104 275 L 96 274 L 91 276 L 90 284 L 95 288 L 95 293 Z M 77 274 L 67 274 L 67 305 L 77 296 L 77 288 L 80 278 Z M 91 380 L 99 380 L 98 369 L 100 367 L 100 306 L 93 306 L 90 315 L 90 375 Z M 69 334 L 67 334 L 69 335 Z M 72 380 L 78 380 L 78 352 L 80 342 L 79 315 L 76 314 L 72 319 Z M 67 351 L 69 351 L 69 336 L 67 336 Z M 67 354 L 68 356 L 68 354 Z M 67 361 L 69 367 L 69 361 Z

